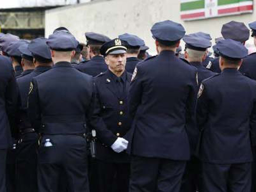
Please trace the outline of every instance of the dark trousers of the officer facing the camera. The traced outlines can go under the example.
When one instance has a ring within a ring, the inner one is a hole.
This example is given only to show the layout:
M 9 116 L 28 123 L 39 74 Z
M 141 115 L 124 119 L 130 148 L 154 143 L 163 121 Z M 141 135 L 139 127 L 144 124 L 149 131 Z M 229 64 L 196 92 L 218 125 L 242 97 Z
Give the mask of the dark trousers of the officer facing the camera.
M 128 192 L 130 163 L 97 160 L 99 192 Z

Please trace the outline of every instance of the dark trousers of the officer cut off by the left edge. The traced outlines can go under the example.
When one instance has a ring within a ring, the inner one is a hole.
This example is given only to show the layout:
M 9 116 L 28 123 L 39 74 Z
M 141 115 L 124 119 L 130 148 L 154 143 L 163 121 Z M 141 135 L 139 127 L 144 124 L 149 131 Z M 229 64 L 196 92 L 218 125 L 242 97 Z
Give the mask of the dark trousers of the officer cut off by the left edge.
M 6 192 L 6 155 L 7 149 L 0 149 L 0 192 Z

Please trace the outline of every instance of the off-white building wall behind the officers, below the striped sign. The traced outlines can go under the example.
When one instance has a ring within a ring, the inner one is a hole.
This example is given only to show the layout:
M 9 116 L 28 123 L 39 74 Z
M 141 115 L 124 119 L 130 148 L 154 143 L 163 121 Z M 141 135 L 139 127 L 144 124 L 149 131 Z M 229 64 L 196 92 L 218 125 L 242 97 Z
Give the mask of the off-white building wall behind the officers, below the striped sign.
M 48 36 L 56 27 L 66 26 L 84 42 L 84 32 L 99 32 L 110 38 L 128 32 L 143 38 L 154 52 L 151 26 L 167 19 L 182 23 L 187 33 L 208 32 L 216 38 L 221 36 L 224 23 L 236 20 L 248 24 L 256 20 L 256 12 L 184 22 L 180 20 L 180 0 L 98 0 L 46 11 L 45 34 Z

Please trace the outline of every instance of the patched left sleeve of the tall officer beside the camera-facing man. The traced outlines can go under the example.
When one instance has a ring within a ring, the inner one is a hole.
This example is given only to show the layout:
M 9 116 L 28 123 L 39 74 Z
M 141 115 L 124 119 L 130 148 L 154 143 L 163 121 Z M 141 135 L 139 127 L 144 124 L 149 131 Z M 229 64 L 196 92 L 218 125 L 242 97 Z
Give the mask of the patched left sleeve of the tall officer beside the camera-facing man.
M 131 79 L 131 87 L 128 96 L 129 103 L 129 113 L 131 118 L 134 119 L 134 116 L 137 112 L 137 108 L 141 103 L 141 97 L 143 93 L 143 74 L 139 66 L 134 69 L 134 73 Z

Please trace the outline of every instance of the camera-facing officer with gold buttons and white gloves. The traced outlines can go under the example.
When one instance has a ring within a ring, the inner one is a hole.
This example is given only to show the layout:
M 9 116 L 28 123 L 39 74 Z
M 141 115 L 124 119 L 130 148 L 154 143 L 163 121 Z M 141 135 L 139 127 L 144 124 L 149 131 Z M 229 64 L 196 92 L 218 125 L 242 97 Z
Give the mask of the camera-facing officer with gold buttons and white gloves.
M 125 153 L 125 140 L 131 126 L 128 114 L 128 91 L 131 74 L 125 70 L 127 44 L 118 38 L 101 48 L 108 70 L 95 77 L 96 158 L 99 192 L 128 192 L 130 160 Z

